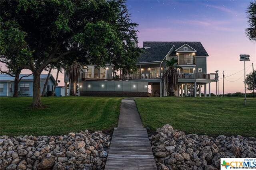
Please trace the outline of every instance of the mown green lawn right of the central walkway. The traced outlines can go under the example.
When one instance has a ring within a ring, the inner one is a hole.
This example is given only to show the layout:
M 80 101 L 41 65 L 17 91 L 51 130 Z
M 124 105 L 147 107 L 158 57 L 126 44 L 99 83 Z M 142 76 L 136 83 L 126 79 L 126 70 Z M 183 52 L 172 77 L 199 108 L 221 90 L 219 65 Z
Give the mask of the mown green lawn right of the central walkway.
M 144 127 L 156 130 L 166 123 L 198 135 L 256 136 L 256 98 L 163 97 L 135 100 Z

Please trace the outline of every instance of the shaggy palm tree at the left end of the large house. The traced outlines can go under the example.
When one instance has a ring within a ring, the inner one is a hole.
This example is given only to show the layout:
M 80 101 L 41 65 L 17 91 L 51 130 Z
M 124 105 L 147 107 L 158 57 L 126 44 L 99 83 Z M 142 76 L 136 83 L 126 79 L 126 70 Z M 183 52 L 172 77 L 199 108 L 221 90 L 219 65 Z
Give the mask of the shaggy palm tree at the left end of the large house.
M 76 92 L 74 90 L 75 84 L 78 81 L 78 77 L 80 75 L 81 65 L 77 62 L 73 63 L 68 67 L 66 74 L 68 74 L 69 79 L 69 95 L 76 96 Z

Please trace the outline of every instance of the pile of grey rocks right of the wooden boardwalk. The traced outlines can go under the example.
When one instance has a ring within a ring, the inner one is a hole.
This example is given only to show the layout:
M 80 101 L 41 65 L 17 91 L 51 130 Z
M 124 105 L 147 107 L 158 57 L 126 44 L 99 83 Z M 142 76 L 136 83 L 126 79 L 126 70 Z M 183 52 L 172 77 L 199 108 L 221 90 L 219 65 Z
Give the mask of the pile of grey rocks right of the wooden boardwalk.
M 218 170 L 220 158 L 256 157 L 255 137 L 186 135 L 166 124 L 149 139 L 158 170 Z

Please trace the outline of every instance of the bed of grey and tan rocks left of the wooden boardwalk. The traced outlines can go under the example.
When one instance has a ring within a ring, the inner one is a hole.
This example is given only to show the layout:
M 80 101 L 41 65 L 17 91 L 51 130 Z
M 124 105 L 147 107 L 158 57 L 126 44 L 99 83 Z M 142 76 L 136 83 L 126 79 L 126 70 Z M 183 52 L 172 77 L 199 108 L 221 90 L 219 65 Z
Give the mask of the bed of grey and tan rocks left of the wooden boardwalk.
M 63 136 L 0 136 L 1 170 L 102 170 L 110 137 L 87 130 Z

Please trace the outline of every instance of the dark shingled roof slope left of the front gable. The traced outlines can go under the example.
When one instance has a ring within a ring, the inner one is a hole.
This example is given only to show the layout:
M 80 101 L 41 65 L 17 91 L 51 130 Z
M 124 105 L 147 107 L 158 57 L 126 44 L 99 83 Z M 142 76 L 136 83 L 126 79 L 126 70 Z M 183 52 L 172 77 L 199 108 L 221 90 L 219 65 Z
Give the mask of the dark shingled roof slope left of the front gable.
M 138 58 L 138 63 L 162 61 L 168 54 L 172 45 L 154 46 L 150 48 L 142 48 L 144 53 Z

